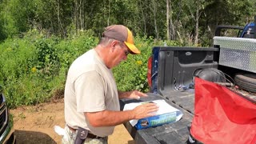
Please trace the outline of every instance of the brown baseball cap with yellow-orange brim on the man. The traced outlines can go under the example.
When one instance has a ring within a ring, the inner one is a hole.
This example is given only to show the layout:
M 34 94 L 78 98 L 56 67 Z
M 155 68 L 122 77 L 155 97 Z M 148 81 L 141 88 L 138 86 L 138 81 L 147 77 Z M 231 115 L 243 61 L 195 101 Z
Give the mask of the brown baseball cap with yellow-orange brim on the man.
M 121 42 L 124 42 L 130 49 L 131 54 L 141 54 L 140 50 L 134 46 L 134 36 L 131 31 L 122 25 L 107 26 L 103 32 L 104 38 L 112 38 Z

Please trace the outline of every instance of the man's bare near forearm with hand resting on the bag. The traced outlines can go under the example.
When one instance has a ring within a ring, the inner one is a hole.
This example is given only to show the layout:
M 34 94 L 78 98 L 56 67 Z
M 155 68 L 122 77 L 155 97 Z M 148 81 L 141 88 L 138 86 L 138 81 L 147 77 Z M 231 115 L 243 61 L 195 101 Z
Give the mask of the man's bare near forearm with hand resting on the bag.
M 103 110 L 99 112 L 84 113 L 86 119 L 90 122 L 91 126 L 117 126 L 131 119 L 140 119 L 154 116 L 154 112 L 158 110 L 155 103 L 146 103 L 137 106 L 134 110 L 125 111 L 110 111 Z

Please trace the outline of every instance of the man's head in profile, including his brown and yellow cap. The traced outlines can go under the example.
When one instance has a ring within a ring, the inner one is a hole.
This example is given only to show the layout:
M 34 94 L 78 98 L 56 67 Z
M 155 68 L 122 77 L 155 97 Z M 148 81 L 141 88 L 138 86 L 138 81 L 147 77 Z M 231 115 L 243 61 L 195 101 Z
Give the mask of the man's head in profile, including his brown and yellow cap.
M 106 27 L 99 45 L 96 46 L 96 50 L 106 66 L 110 69 L 126 60 L 128 54 L 141 53 L 134 46 L 131 31 L 122 25 Z

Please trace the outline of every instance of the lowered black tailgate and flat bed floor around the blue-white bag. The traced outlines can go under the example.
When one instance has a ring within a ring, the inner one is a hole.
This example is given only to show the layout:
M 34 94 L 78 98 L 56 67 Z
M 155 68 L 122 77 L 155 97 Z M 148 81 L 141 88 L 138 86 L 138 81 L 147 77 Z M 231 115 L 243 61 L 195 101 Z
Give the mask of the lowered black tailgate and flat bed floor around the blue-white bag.
M 134 141 L 138 144 L 181 144 L 187 141 L 189 136 L 189 128 L 192 122 L 194 113 L 194 94 L 191 92 L 178 92 L 174 91 L 166 98 L 159 94 L 148 93 L 147 98 L 141 98 L 140 100 L 122 100 L 121 108 L 130 102 L 146 102 L 157 99 L 164 99 L 171 106 L 174 106 L 183 113 L 182 119 L 178 122 L 165 124 L 162 126 L 150 127 L 147 129 L 136 130 L 130 125 L 130 122 L 126 122 L 124 125 L 134 138 Z

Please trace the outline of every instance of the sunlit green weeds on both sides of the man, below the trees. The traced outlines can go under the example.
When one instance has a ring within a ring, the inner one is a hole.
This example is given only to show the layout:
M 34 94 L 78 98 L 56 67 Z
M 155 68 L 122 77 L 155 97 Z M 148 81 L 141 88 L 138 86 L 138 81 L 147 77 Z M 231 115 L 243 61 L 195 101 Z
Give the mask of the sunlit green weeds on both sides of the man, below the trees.
M 46 37 L 36 30 L 24 38 L 6 39 L 0 44 L 0 85 L 10 108 L 47 102 L 62 95 L 66 73 L 79 55 L 98 44 L 90 30 L 69 38 Z M 152 46 L 162 45 L 153 38 L 135 38 L 139 55 L 129 55 L 126 62 L 114 68 L 119 90 L 148 90 L 147 59 Z M 177 45 L 170 42 L 170 45 Z

